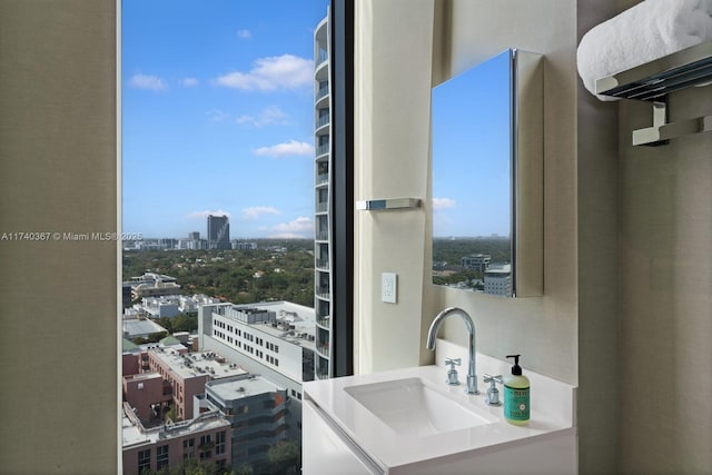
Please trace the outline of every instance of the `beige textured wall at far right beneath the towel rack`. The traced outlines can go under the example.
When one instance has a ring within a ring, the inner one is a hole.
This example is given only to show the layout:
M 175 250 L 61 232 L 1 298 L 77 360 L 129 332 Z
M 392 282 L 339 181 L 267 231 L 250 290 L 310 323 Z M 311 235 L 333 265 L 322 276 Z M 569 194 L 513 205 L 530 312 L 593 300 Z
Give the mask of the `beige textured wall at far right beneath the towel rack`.
M 710 113 L 710 89 L 673 93 L 671 120 Z M 632 147 L 631 131 L 652 121 L 650 106 L 626 101 L 619 111 L 620 467 L 709 473 L 712 133 Z

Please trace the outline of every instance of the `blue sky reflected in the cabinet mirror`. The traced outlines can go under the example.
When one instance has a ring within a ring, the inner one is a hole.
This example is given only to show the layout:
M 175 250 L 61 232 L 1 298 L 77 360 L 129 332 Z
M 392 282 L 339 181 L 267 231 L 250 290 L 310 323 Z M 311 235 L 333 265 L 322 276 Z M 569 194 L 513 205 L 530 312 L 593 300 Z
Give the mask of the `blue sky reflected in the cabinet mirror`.
M 508 52 L 433 90 L 433 235 L 510 236 Z

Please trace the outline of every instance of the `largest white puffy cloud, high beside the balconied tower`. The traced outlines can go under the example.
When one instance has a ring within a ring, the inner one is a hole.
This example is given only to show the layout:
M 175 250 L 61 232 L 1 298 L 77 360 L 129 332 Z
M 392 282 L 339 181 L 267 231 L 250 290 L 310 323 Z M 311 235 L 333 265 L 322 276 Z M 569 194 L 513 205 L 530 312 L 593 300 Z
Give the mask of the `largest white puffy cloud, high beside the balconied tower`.
M 294 55 L 260 58 L 249 72 L 230 72 L 215 82 L 228 88 L 260 91 L 306 88 L 314 82 L 314 62 Z

